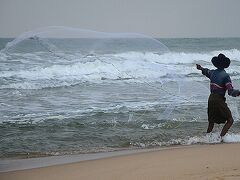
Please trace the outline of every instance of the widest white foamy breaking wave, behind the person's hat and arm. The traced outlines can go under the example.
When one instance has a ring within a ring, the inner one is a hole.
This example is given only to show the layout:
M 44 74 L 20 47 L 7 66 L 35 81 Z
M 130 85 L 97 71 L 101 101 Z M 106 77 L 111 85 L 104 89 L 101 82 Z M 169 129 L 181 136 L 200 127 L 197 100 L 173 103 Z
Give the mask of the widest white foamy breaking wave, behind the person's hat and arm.
M 18 53 L 10 59 L 9 55 L 1 53 L 0 60 L 3 66 L 0 81 L 5 84 L 2 83 L 0 88 L 42 89 L 72 86 L 84 82 L 101 83 L 109 80 L 112 82 L 119 82 L 119 80 L 163 82 L 177 81 L 179 77 L 201 80 L 201 74 L 196 71 L 195 63 L 200 62 L 205 67 L 212 68 L 210 59 L 220 52 L 225 53 L 235 62 L 228 72 L 233 79 L 239 79 L 240 51 L 237 49 L 208 53 L 126 52 L 108 55 L 92 54 L 85 57 L 76 53 L 61 54 L 62 59 L 59 57 L 53 59 L 52 56 L 41 53 Z M 16 60 L 20 64 L 14 65 Z M 9 68 L 11 65 L 12 67 Z M 6 79 L 11 81 L 8 82 Z

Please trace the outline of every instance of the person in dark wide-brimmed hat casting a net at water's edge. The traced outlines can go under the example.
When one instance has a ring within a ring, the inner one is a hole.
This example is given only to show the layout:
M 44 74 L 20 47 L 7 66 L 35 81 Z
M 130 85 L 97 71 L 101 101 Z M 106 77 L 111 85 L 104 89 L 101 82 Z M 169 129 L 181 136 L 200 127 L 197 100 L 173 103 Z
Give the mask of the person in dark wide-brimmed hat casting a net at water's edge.
M 230 63 L 229 58 L 224 54 L 219 54 L 212 58 L 212 64 L 217 68 L 215 70 L 209 70 L 196 64 L 197 69 L 210 79 L 211 94 L 208 98 L 207 133 L 212 132 L 214 123 L 225 124 L 220 134 L 221 141 L 233 124 L 232 113 L 225 102 L 225 93 L 228 91 L 228 95 L 233 97 L 240 95 L 240 91 L 233 88 L 230 76 L 224 70 L 229 67 Z

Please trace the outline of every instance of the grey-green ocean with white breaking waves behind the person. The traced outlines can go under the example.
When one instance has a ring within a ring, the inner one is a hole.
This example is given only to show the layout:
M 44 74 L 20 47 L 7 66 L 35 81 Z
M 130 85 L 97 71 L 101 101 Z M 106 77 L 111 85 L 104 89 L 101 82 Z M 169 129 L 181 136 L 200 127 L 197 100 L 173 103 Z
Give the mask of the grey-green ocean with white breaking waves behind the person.
M 209 80 L 195 64 L 213 69 L 224 53 L 240 89 L 240 38 L 151 39 L 161 52 L 138 38 L 98 51 L 92 38 L 35 40 L 0 39 L 0 158 L 220 143 L 223 125 L 206 134 Z M 240 142 L 240 99 L 227 103 L 224 142 Z

